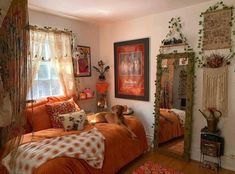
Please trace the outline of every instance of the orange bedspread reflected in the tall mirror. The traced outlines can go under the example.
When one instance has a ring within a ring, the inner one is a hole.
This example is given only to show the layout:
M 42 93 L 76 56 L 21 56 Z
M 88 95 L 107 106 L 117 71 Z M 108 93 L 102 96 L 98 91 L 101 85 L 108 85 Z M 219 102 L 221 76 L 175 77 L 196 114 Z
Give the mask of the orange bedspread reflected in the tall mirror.
M 168 111 L 169 109 L 160 109 L 162 116 L 159 119 L 159 143 L 184 135 L 184 128 L 179 118 L 173 112 Z

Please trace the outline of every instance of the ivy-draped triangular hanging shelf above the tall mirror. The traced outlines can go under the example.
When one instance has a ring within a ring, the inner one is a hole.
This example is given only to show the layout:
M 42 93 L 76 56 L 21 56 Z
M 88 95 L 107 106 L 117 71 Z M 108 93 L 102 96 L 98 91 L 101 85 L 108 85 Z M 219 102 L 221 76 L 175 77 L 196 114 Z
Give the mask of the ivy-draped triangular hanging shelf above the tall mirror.
M 192 51 L 192 48 L 188 45 L 186 37 L 182 33 L 182 24 L 180 17 L 171 18 L 169 21 L 169 33 L 166 35 L 166 39 L 162 40 L 162 46 L 159 52 L 163 52 L 163 48 L 184 46 L 184 51 Z M 174 50 L 174 52 L 177 52 Z

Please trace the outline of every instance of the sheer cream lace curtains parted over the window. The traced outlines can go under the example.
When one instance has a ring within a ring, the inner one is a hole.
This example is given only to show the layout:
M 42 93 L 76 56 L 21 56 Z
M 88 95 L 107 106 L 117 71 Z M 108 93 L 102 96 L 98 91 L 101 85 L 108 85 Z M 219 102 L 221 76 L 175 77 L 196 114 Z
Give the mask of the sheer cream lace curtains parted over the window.
M 44 29 L 30 29 L 30 57 L 32 60 L 30 82 L 38 72 L 40 62 L 44 56 L 44 45 L 49 45 L 46 59 L 52 61 L 57 73 L 59 74 L 65 96 L 77 97 L 77 88 L 74 80 L 73 62 L 72 62 L 72 42 L 71 35 L 65 32 L 46 31 Z M 31 89 L 28 87 L 28 90 Z

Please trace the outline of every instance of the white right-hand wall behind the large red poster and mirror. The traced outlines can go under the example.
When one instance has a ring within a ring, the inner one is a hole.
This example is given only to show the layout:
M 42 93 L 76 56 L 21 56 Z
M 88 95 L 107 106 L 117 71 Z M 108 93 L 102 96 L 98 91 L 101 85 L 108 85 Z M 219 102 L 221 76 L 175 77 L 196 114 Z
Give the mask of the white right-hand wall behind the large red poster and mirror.
M 165 38 L 168 32 L 168 21 L 172 17 L 181 17 L 183 23 L 183 33 L 187 37 L 189 44 L 197 53 L 198 31 L 200 13 L 205 11 L 210 5 L 217 1 L 210 3 L 203 3 L 196 6 L 191 6 L 183 9 L 177 9 L 161 14 L 154 14 L 142 18 L 106 24 L 100 26 L 100 57 L 111 65 L 111 71 L 108 74 L 108 81 L 110 82 L 109 100 L 111 105 L 116 103 L 127 104 L 135 110 L 136 115 L 144 123 L 146 132 L 149 136 L 153 135 L 151 128 L 153 123 L 153 105 L 156 79 L 156 55 L 159 53 L 161 41 Z M 234 0 L 224 0 L 225 4 L 234 5 Z M 114 96 L 114 49 L 113 43 L 118 41 L 132 40 L 149 37 L 150 38 L 150 100 L 149 102 L 126 100 L 115 98 Z M 235 139 L 233 138 L 235 132 L 235 60 L 229 66 L 229 111 L 228 117 L 220 121 L 220 128 L 225 137 L 225 156 L 223 157 L 222 166 L 224 168 L 235 170 Z M 200 156 L 200 130 L 206 125 L 205 119 L 198 112 L 202 108 L 202 69 L 196 69 L 195 78 L 195 92 L 194 92 L 194 112 L 193 112 L 193 136 L 192 136 L 192 150 L 191 158 L 199 160 Z

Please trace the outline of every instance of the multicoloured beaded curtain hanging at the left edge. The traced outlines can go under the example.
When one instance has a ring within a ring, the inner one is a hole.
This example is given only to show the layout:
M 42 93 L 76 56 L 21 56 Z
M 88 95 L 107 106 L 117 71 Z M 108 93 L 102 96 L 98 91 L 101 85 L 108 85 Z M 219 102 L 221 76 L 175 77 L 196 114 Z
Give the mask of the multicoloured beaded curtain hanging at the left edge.
M 27 0 L 13 0 L 0 28 L 0 73 L 12 107 L 11 122 L 3 128 L 1 135 L 2 144 L 12 140 L 6 153 L 18 147 L 23 134 L 27 94 L 27 26 Z

